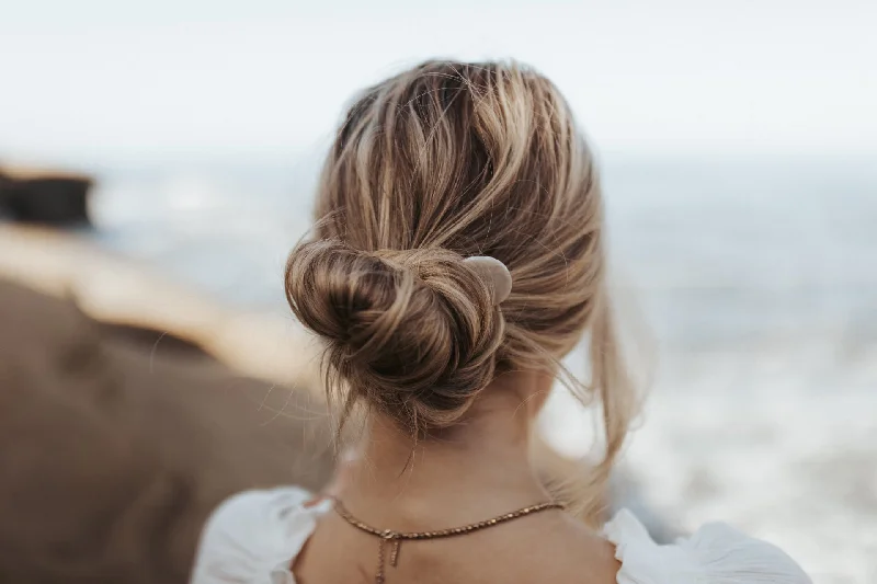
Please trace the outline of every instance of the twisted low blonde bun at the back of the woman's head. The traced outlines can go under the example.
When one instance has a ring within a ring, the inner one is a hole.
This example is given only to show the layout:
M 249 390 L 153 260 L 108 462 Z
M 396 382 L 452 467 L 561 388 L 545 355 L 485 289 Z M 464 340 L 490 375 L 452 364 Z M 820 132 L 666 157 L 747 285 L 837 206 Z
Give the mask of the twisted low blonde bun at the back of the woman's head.
M 365 252 L 337 240 L 289 256 L 286 296 L 351 391 L 405 427 L 452 425 L 493 378 L 505 322 L 456 253 Z

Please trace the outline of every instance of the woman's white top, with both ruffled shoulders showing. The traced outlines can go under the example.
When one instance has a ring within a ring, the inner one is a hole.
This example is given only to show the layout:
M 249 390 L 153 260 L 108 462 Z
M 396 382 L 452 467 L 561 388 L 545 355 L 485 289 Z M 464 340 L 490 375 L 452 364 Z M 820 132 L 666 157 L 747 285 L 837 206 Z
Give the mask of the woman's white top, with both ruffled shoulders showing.
M 292 564 L 329 501 L 298 488 L 246 491 L 214 511 L 191 584 L 295 584 Z M 628 511 L 603 535 L 622 562 L 618 584 L 812 584 L 779 548 L 725 524 L 708 524 L 672 546 L 657 545 Z

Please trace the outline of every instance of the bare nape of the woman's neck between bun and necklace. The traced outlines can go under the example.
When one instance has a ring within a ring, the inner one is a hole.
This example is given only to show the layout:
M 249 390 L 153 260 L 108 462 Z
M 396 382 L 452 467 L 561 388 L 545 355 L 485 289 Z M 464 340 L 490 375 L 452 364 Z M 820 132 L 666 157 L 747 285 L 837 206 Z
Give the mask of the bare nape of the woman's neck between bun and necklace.
M 420 440 L 389 419 L 373 416 L 345 462 L 339 499 L 362 520 L 395 529 L 455 517 L 468 523 L 547 501 L 529 461 L 543 385 L 533 374 L 502 376 L 464 422 Z

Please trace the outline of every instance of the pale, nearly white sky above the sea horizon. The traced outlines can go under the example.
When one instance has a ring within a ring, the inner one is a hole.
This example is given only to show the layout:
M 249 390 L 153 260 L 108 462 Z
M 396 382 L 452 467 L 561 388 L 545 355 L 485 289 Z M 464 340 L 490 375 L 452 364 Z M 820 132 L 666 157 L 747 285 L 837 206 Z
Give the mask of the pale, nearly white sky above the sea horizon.
M 0 0 L 0 156 L 322 146 L 364 84 L 514 57 L 604 151 L 877 156 L 875 0 Z

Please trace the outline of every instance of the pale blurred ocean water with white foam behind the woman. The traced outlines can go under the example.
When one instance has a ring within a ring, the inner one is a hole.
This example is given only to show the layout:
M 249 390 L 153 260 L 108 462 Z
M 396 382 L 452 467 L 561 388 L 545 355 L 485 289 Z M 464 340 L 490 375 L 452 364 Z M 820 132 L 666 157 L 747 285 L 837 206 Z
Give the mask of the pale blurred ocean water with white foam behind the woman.
M 287 314 L 315 175 L 106 169 L 93 237 Z M 681 530 L 721 519 L 770 539 L 818 583 L 877 579 L 877 165 L 607 157 L 603 179 L 613 284 L 651 380 L 622 460 L 646 504 Z M 589 420 L 559 390 L 545 431 L 586 455 Z

